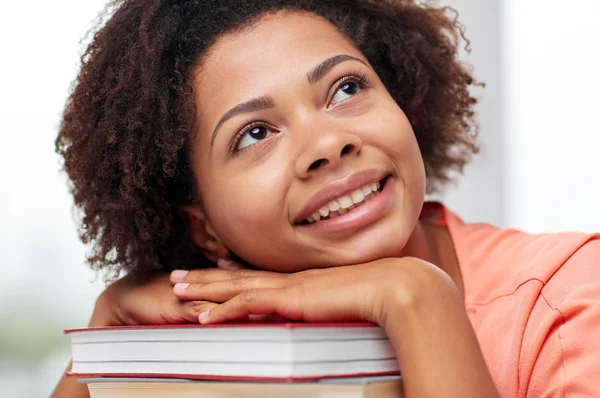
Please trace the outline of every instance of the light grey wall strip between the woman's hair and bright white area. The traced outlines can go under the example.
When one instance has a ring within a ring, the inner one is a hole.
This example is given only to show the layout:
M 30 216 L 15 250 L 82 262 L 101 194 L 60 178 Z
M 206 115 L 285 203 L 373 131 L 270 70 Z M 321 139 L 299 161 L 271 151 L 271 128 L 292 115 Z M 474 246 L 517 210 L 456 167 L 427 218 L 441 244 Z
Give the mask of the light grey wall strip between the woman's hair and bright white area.
M 501 71 L 501 33 L 498 12 L 500 0 L 446 0 L 454 7 L 459 21 L 466 27 L 471 53 L 463 59 L 474 66 L 474 76 L 486 84 L 474 89 L 480 121 L 481 152 L 465 169 L 458 184 L 445 191 L 444 202 L 466 221 L 485 221 L 503 226 L 506 223 L 505 192 L 506 141 Z

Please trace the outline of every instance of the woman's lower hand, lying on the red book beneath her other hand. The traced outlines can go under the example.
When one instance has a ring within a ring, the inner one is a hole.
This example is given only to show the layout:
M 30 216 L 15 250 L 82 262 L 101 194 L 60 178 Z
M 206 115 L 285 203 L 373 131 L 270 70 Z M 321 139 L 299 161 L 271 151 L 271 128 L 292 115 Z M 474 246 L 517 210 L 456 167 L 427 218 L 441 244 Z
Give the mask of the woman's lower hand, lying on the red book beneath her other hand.
M 181 301 L 173 294 L 169 275 L 145 282 L 126 276 L 100 295 L 90 326 L 122 326 L 198 322 L 198 316 L 214 303 Z

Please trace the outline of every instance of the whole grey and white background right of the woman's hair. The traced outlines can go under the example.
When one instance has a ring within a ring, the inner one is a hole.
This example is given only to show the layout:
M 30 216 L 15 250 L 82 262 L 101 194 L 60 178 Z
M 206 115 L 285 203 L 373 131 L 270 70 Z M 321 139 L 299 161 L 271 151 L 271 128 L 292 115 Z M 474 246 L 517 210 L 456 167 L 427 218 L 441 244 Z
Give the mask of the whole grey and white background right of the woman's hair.
M 600 2 L 447 0 L 487 84 L 482 152 L 445 202 L 468 221 L 600 230 Z

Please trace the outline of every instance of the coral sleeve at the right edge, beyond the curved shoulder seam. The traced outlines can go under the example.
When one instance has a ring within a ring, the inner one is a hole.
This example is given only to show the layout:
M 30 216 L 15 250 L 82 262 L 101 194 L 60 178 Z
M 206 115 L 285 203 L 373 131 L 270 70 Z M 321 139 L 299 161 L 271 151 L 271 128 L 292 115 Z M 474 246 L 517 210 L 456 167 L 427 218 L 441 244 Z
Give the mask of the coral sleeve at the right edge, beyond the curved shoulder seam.
M 600 239 L 588 241 L 541 292 L 547 312 L 527 397 L 600 397 Z M 545 326 L 544 326 L 545 325 Z M 528 376 L 528 377 L 527 377 Z M 522 379 L 522 381 L 524 381 Z

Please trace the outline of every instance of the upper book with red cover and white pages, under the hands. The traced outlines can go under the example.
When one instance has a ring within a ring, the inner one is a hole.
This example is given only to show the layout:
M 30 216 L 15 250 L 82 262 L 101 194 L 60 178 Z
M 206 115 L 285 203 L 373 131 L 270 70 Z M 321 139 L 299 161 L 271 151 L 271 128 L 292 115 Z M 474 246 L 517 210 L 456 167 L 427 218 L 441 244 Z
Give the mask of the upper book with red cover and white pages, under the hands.
M 398 374 L 395 352 L 369 323 L 241 323 L 85 328 L 70 374 L 235 381 L 308 381 Z

